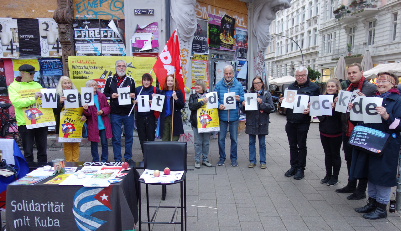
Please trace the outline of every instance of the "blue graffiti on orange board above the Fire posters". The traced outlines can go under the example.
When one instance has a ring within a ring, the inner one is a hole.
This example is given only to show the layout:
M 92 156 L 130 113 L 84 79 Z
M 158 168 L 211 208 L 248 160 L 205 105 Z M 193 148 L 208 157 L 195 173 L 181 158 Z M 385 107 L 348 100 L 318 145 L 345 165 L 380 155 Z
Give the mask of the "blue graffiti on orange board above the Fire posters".
M 73 0 L 76 19 L 124 19 L 124 0 Z

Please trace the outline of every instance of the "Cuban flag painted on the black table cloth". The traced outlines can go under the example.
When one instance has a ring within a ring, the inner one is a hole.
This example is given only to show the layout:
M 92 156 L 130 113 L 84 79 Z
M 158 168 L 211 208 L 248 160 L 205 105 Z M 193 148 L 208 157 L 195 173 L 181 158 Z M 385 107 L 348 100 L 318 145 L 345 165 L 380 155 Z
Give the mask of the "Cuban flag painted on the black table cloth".
M 107 221 L 91 215 L 97 211 L 111 211 L 109 187 L 82 187 L 74 195 L 73 213 L 81 231 L 96 230 Z

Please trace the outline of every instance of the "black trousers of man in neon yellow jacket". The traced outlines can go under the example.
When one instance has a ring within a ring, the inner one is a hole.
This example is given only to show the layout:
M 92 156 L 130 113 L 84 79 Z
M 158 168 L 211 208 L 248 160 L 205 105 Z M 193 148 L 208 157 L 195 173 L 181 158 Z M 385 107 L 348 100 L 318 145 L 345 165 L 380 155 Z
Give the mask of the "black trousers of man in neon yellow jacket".
M 25 125 L 20 125 L 18 131 L 26 162 L 33 162 L 33 142 L 36 143 L 38 162 L 47 162 L 47 127 L 26 129 Z

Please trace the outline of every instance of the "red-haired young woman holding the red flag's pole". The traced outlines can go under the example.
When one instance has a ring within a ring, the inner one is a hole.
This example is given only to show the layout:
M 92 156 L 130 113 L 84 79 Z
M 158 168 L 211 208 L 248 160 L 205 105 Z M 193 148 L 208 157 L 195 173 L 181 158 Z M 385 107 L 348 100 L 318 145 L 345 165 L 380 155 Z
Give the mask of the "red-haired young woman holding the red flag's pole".
M 181 109 L 184 108 L 184 96 L 180 89 L 178 89 L 178 81 L 175 79 L 175 89 L 173 90 L 174 76 L 168 75 L 164 82 L 162 94 L 164 98 L 163 111 L 160 112 L 159 117 L 159 136 L 162 135 L 162 141 L 178 141 L 180 135 L 184 134 L 184 128 L 182 127 Z M 171 138 L 171 125 L 172 125 L 172 114 L 173 114 L 173 103 L 174 103 L 174 123 L 172 127 L 172 138 Z M 162 131 L 162 133 L 160 132 Z

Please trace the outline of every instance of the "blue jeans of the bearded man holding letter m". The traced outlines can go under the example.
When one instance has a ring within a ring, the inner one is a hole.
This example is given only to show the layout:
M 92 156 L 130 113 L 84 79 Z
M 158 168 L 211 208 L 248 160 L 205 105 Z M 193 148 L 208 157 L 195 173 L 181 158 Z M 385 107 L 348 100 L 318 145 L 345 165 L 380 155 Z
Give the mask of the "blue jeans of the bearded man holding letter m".
M 115 161 L 121 161 L 121 126 L 124 124 L 125 131 L 125 153 L 124 159 L 128 161 L 132 158 L 132 143 L 134 142 L 134 115 L 111 114 L 111 133 L 113 133 L 113 154 Z

